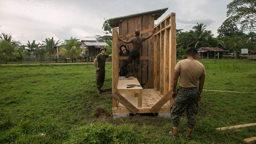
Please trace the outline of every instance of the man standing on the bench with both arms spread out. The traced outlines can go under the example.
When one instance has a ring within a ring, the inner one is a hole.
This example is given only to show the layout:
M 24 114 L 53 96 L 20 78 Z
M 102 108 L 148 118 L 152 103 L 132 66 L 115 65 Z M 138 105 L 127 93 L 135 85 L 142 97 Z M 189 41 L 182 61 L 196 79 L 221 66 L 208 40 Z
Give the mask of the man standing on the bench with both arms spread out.
M 132 76 L 132 62 L 134 60 L 134 77 L 137 77 L 137 72 L 139 71 L 139 56 L 140 56 L 140 50 L 141 50 L 141 45 L 143 41 L 149 39 L 153 34 L 155 33 L 155 29 L 152 31 L 152 33 L 146 37 L 139 37 L 139 30 L 134 31 L 134 36 L 131 38 L 129 41 L 126 41 L 124 38 L 119 39 L 123 41 L 126 44 L 132 43 L 132 51 L 129 54 L 129 57 L 127 59 L 127 70 L 128 74 L 125 76 L 130 77 Z

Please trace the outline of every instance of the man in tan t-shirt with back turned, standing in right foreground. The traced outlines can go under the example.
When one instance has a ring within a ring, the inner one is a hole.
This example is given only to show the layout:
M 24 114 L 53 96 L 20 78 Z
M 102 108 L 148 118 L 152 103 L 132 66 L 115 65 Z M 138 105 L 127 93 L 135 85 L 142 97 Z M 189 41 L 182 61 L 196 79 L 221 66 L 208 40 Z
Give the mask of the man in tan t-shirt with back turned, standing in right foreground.
M 183 135 L 189 140 L 191 139 L 191 133 L 196 123 L 198 103 L 201 101 L 205 69 L 203 64 L 196 60 L 196 49 L 189 48 L 187 50 L 186 57 L 187 59 L 179 61 L 174 68 L 174 76 L 172 82 L 172 99 L 174 99 L 174 102 L 170 110 L 173 131 L 170 131 L 169 135 L 174 137 L 175 139 L 179 138 L 179 117 L 186 109 L 186 115 L 188 119 L 187 131 L 183 132 Z M 180 90 L 177 94 L 175 89 L 179 76 Z

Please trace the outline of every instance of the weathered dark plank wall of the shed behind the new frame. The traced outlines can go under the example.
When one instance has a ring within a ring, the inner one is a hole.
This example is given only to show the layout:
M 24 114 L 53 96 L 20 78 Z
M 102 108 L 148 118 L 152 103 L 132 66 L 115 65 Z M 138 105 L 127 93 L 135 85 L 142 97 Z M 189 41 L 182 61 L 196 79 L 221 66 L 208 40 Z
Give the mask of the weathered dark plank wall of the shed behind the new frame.
M 119 35 L 126 35 L 134 33 L 135 30 L 146 30 L 154 27 L 154 16 L 152 14 L 142 15 L 133 18 L 123 19 L 119 21 Z M 147 36 L 151 34 L 150 32 L 143 33 L 140 36 Z M 125 38 L 130 40 L 133 36 Z M 122 41 L 119 41 L 119 45 L 124 45 Z M 129 44 L 130 50 L 132 49 L 132 44 Z M 154 36 L 143 42 L 140 56 L 154 56 Z M 132 65 L 134 66 L 134 65 Z M 134 68 L 134 67 L 133 67 Z M 133 69 L 134 70 L 134 69 Z M 145 85 L 150 78 L 154 76 L 154 60 L 140 60 L 139 72 L 137 79 L 141 85 Z M 152 86 L 153 88 L 153 83 Z

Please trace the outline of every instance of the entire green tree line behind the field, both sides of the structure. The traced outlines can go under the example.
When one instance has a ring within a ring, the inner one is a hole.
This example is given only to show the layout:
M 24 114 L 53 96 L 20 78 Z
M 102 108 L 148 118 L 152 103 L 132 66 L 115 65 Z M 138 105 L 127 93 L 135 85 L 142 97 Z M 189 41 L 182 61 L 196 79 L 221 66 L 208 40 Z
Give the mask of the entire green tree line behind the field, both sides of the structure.
M 206 30 L 206 25 L 197 23 L 190 31 L 183 29 L 176 30 L 176 47 L 178 58 L 184 58 L 187 48 L 194 47 L 218 47 L 228 53 L 240 51 L 241 49 L 256 50 L 256 0 L 233 0 L 227 5 L 227 19 L 218 28 L 217 37 L 213 37 L 211 31 Z M 112 28 L 109 20 L 104 18 L 102 29 L 105 35 L 95 35 L 96 40 L 104 40 L 110 47 L 106 46 L 107 54 L 112 53 Z M 22 63 L 28 57 L 30 50 L 40 59 L 51 58 L 53 48 L 60 46 L 56 56 L 66 56 L 73 59 L 80 55 L 83 50 L 79 46 L 81 42 L 75 37 L 66 39 L 64 42 L 52 38 L 46 38 L 42 44 L 35 44 L 28 41 L 27 45 L 21 45 L 18 41 L 13 41 L 9 34 L 0 34 L 0 64 L 15 58 Z M 25 49 L 25 48 L 28 48 Z

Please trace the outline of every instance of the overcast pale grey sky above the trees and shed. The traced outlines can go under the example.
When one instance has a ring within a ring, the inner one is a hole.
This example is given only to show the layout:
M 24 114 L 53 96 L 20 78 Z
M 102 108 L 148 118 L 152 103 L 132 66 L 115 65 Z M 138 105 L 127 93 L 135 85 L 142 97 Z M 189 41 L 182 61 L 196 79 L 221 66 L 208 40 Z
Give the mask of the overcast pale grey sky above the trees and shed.
M 95 40 L 104 35 L 104 18 L 169 8 L 155 24 L 171 12 L 176 28 L 189 31 L 196 23 L 206 24 L 216 37 L 226 19 L 226 6 L 232 0 L 0 0 L 0 32 L 26 45 L 45 38 L 57 40 L 71 36 Z

